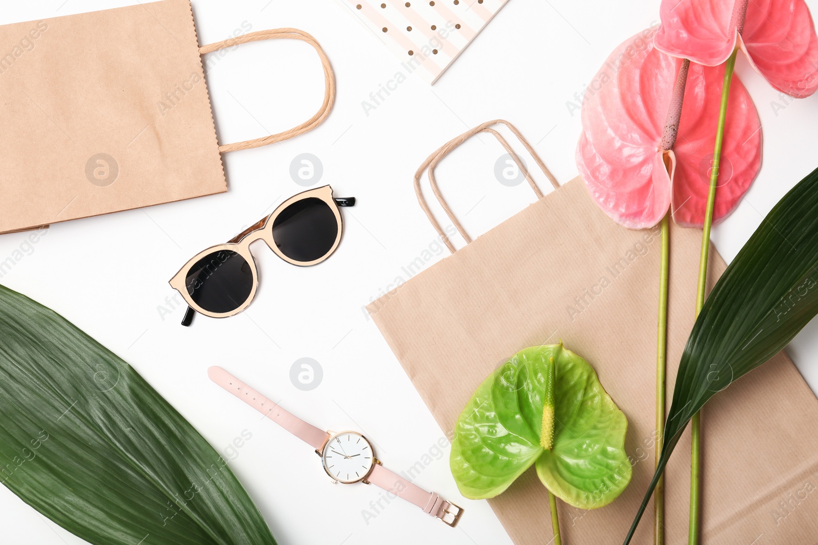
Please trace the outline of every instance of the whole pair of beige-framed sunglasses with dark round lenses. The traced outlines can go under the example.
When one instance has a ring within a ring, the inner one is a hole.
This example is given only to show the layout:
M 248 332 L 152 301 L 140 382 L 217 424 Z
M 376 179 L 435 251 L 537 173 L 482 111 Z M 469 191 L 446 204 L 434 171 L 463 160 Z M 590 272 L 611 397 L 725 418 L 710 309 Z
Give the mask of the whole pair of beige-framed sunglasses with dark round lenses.
M 169 282 L 188 305 L 182 325 L 191 324 L 194 310 L 227 318 L 249 306 L 258 288 L 249 245 L 258 239 L 293 265 L 317 265 L 330 257 L 344 228 L 339 206 L 355 206 L 355 198 L 334 199 L 329 185 L 304 191 L 227 243 L 197 253 Z

